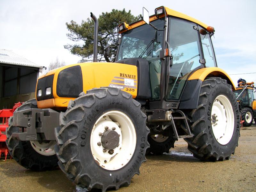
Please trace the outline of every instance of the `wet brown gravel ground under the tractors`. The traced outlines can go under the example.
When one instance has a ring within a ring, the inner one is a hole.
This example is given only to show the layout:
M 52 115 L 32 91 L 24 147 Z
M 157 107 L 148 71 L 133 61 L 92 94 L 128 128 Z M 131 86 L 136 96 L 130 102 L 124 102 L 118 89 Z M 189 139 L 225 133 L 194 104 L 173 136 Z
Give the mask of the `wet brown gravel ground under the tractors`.
M 256 191 L 256 125 L 241 130 L 239 146 L 230 160 L 203 162 L 187 150 L 180 139 L 163 156 L 147 156 L 140 176 L 125 191 Z M 32 172 L 13 159 L 0 160 L 0 191 L 84 192 L 60 170 Z

